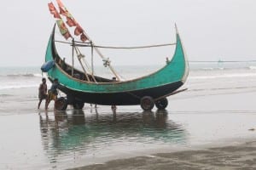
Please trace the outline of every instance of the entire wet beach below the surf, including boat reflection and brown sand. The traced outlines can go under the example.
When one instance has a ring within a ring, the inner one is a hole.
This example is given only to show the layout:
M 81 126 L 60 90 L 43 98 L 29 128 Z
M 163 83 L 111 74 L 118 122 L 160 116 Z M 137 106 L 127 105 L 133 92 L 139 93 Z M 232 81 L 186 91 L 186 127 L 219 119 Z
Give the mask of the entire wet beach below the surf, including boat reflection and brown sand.
M 1 94 L 0 169 L 256 168 L 255 88 L 188 91 L 164 113 L 137 105 L 116 115 L 88 104 L 37 110 L 37 88 Z

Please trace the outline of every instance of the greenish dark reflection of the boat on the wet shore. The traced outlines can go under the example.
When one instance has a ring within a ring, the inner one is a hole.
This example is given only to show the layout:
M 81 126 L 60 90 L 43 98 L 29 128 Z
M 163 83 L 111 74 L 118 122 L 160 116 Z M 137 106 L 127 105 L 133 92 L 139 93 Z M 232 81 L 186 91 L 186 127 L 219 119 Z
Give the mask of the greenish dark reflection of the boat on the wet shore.
M 135 113 L 94 113 L 84 111 L 40 114 L 44 151 L 51 163 L 94 155 L 115 146 L 139 144 L 183 144 L 182 125 L 168 119 L 167 111 Z M 74 156 L 74 157 L 73 157 Z

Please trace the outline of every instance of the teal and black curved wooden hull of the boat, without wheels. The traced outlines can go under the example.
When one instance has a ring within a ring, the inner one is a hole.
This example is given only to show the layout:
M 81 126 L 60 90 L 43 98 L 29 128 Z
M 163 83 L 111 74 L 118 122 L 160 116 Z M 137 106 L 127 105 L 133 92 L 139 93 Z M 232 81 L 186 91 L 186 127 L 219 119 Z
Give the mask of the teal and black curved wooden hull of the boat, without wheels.
M 53 31 L 49 37 L 45 61 L 55 60 L 56 56 L 58 54 L 55 49 L 55 31 Z M 57 64 L 47 74 L 51 80 L 54 78 L 59 79 L 61 91 L 76 96 L 86 103 L 138 105 L 139 99 L 143 96 L 151 96 L 157 99 L 166 94 L 171 94 L 177 88 L 180 88 L 188 77 L 189 66 L 183 51 L 182 42 L 177 34 L 176 50 L 172 60 L 159 71 L 155 71 L 153 74 L 145 77 L 125 82 L 87 82 L 71 77 Z M 158 89 L 161 91 L 158 91 Z M 131 99 L 120 99 L 122 94 L 124 94 L 124 98 L 129 98 L 130 96 Z M 102 101 L 100 98 L 104 98 L 106 101 Z M 132 100 L 136 101 L 131 102 Z

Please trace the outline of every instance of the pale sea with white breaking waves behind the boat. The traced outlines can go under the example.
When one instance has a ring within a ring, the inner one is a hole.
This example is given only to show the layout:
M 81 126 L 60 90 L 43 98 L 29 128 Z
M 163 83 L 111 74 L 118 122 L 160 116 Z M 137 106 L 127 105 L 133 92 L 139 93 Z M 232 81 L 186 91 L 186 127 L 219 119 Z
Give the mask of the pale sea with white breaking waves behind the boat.
M 122 80 L 143 77 L 149 73 L 161 68 L 161 65 L 143 65 L 143 66 L 116 66 L 115 67 Z M 186 85 L 194 87 L 198 82 L 204 80 L 216 80 L 222 82 L 223 79 L 234 79 L 235 82 L 241 82 L 239 77 L 245 77 L 249 80 L 255 77 L 256 62 L 251 63 L 190 63 L 189 79 Z M 111 79 L 113 75 L 103 66 L 96 66 L 96 75 Z M 40 67 L 0 67 L 0 90 L 14 88 L 35 88 L 38 87 L 40 79 L 46 75 L 40 71 Z M 208 81 L 205 81 L 208 82 Z M 207 88 L 207 87 L 206 87 Z

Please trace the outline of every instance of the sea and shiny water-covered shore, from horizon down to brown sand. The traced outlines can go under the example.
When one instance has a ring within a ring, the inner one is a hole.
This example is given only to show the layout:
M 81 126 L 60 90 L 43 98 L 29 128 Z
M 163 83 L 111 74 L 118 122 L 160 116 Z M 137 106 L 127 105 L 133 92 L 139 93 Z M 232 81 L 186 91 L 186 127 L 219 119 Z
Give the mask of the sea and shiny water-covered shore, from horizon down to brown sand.
M 255 127 L 255 63 L 190 63 L 183 93 L 165 111 L 139 105 L 85 104 L 84 110 L 44 111 L 39 67 L 0 68 L 0 169 L 66 169 L 148 155 L 221 139 L 251 138 Z M 104 68 L 96 74 L 113 77 Z M 118 66 L 122 79 L 142 77 L 160 65 Z M 48 86 L 50 83 L 48 81 Z M 61 94 L 65 95 L 65 94 Z M 44 102 L 43 102 L 44 103 Z

